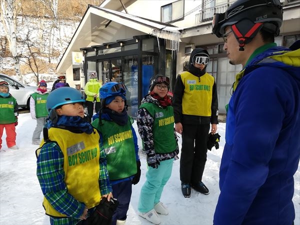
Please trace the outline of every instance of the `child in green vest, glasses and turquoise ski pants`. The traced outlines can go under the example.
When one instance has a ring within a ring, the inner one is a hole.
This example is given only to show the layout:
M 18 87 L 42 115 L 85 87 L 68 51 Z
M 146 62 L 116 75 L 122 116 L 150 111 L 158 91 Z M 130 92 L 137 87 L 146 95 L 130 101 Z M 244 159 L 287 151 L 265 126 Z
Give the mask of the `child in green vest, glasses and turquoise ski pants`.
M 160 223 L 157 213 L 168 214 L 166 206 L 160 202 L 160 196 L 179 153 L 173 107 L 167 95 L 169 87 L 168 77 L 162 74 L 153 76 L 150 92 L 142 99 L 136 118 L 148 165 L 137 209 L 141 217 L 154 224 Z

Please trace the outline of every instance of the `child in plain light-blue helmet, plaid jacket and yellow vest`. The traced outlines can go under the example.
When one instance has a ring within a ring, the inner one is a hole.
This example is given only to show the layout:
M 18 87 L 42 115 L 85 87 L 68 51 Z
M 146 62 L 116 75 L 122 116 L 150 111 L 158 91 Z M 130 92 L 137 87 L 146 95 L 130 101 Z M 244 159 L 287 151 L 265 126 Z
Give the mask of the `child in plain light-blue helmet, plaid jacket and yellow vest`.
M 98 132 L 84 119 L 84 101 L 72 87 L 57 88 L 47 98 L 36 175 L 50 224 L 77 224 L 102 197 L 112 197 L 105 153 Z

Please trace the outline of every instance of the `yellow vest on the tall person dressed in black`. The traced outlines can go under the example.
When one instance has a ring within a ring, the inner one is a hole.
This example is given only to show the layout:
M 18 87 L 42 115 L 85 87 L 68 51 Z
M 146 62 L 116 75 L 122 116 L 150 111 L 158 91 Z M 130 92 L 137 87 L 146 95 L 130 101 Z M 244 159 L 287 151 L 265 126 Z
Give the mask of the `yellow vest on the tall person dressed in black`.
M 188 71 L 182 72 L 180 77 L 184 84 L 182 114 L 211 116 L 214 77 L 207 72 L 197 77 Z

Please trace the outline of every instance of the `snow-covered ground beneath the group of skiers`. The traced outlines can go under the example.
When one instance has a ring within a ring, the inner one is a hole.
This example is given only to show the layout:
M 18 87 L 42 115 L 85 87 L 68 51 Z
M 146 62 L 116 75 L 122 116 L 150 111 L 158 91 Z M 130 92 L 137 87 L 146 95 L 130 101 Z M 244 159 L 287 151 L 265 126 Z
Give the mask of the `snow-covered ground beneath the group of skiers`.
M 16 126 L 16 143 L 18 150 L 8 149 L 5 142 L 5 133 L 2 136 L 3 144 L 0 151 L 0 224 L 49 224 L 49 218 L 44 214 L 42 207 L 42 192 L 36 175 L 35 149 L 31 144 L 35 120 L 29 113 L 18 116 Z M 133 123 L 135 130 L 136 122 Z M 168 207 L 168 215 L 160 215 L 161 224 L 210 225 L 219 194 L 218 169 L 224 146 L 225 123 L 218 125 L 221 135 L 220 147 L 208 151 L 203 181 L 209 188 L 209 195 L 200 194 L 193 189 L 191 197 L 184 198 L 180 190 L 179 160 L 174 161 L 172 175 L 164 187 L 161 201 Z M 141 140 L 138 135 L 138 144 Z M 181 138 L 179 137 L 179 146 Z M 140 151 L 141 178 L 138 184 L 133 185 L 130 207 L 128 210 L 127 225 L 151 224 L 137 215 L 137 202 L 140 188 L 145 180 L 146 159 Z M 300 170 L 295 175 L 295 192 L 293 202 L 295 206 L 295 225 L 300 224 Z M 229 224 L 228 224 L 229 225 Z

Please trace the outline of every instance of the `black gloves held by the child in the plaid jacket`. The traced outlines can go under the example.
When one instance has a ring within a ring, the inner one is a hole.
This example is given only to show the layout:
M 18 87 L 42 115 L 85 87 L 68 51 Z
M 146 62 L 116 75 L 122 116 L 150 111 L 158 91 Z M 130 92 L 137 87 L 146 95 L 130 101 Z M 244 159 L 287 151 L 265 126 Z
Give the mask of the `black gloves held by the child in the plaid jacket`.
M 83 224 L 110 225 L 112 214 L 118 204 L 119 202 L 114 198 L 110 198 L 110 201 L 107 201 L 106 197 L 102 197 L 100 203 L 95 207 L 91 215 L 88 216 L 87 219 L 82 220 Z

